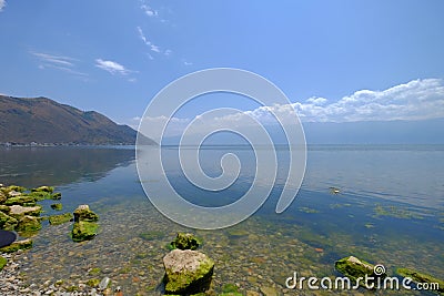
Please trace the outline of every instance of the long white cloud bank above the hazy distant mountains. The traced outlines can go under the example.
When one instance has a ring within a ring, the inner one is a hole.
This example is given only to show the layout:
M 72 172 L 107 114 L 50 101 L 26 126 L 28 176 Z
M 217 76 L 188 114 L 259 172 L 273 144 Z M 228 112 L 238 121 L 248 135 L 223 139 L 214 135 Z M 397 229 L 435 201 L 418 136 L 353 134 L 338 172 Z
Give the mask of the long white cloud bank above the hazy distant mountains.
M 427 120 L 444 118 L 444 80 L 414 80 L 383 91 L 361 90 L 344 96 L 337 102 L 327 103 L 325 98 L 310 98 L 304 102 L 285 105 L 260 106 L 221 118 L 205 119 L 204 126 L 214 129 L 248 126 L 256 119 L 264 125 L 276 124 L 273 114 L 283 124 L 294 124 L 297 114 L 302 122 L 357 122 Z M 195 119 L 201 120 L 198 115 Z M 165 116 L 144 119 L 150 129 L 161 127 Z M 181 135 L 191 119 L 173 118 L 170 120 L 167 136 Z

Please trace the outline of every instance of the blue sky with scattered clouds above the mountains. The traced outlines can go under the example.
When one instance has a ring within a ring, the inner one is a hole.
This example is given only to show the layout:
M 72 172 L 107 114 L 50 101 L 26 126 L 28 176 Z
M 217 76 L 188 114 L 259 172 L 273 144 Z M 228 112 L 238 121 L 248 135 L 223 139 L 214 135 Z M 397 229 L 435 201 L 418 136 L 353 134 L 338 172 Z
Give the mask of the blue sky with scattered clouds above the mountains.
M 0 93 L 48 96 L 118 123 L 137 125 L 168 83 L 215 67 L 271 80 L 303 121 L 444 118 L 441 0 L 0 0 Z M 216 101 L 180 116 L 192 119 Z M 220 101 L 261 113 L 248 100 Z

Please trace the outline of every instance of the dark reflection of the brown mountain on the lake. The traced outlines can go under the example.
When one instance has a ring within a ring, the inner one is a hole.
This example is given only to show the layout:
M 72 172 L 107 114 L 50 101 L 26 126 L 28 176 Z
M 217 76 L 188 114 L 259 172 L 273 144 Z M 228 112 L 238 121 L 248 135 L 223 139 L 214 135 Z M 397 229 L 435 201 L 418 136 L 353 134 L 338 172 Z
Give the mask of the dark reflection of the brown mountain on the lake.
M 93 182 L 134 160 L 124 147 L 12 147 L 0 149 L 0 183 L 34 187 Z

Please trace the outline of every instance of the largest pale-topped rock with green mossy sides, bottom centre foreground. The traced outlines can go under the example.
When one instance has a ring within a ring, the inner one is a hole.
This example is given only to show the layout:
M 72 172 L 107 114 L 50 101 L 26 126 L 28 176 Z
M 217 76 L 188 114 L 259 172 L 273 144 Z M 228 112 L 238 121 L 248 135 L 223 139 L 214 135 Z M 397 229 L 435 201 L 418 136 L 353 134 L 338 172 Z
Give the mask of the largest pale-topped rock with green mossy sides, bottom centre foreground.
M 210 287 L 214 262 L 191 249 L 173 249 L 163 257 L 165 292 L 195 294 Z

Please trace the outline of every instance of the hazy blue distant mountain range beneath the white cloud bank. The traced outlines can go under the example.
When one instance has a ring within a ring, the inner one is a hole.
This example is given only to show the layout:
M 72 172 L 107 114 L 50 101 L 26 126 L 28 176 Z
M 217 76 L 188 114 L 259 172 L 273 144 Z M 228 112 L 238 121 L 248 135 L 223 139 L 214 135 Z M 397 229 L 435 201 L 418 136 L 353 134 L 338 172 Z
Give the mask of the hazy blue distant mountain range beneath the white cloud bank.
M 307 144 L 444 144 L 444 119 L 422 121 L 373 121 L 373 122 L 304 122 Z M 278 125 L 264 125 L 275 144 L 286 144 L 286 137 Z M 251 130 L 254 135 L 255 131 Z M 252 136 L 258 141 L 258 137 Z M 163 139 L 162 144 L 179 144 L 180 136 Z M 196 141 L 196 143 L 199 143 Z M 232 133 L 216 133 L 205 144 L 246 144 Z M 259 143 L 264 144 L 264 143 Z

